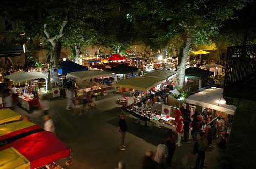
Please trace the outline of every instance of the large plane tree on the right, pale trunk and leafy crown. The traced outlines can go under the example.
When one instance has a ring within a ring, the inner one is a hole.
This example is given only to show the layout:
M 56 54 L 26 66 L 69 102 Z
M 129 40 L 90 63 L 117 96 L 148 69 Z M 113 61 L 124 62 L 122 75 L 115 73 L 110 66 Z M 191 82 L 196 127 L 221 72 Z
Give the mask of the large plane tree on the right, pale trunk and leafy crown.
M 249 1 L 129 0 L 129 15 L 145 45 L 178 51 L 177 87 L 185 90 L 185 68 L 191 44 L 210 44 L 223 21 Z

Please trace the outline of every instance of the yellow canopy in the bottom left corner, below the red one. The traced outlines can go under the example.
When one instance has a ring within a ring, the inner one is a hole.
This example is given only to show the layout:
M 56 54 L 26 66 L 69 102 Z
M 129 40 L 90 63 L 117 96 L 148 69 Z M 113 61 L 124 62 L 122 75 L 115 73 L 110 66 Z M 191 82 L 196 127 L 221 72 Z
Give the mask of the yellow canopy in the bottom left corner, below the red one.
M 31 168 L 29 160 L 14 147 L 0 151 L 0 168 Z

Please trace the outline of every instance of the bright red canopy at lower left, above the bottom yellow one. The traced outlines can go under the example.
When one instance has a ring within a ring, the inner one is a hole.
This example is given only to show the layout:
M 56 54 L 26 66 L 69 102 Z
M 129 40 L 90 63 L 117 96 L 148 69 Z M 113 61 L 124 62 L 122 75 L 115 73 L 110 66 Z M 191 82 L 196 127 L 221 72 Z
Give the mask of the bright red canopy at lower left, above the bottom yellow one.
M 30 161 L 30 168 L 48 164 L 57 159 L 70 156 L 70 147 L 61 142 L 52 132 L 34 136 L 19 145 L 13 146 Z

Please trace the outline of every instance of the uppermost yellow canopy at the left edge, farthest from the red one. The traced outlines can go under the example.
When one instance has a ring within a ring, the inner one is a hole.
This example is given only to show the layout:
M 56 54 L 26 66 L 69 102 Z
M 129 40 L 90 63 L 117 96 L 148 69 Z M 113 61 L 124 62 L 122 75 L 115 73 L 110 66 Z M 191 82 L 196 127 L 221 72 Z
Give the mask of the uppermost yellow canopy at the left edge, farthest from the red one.
M 20 116 L 20 114 L 9 108 L 0 109 L 0 124 L 14 120 L 19 120 Z

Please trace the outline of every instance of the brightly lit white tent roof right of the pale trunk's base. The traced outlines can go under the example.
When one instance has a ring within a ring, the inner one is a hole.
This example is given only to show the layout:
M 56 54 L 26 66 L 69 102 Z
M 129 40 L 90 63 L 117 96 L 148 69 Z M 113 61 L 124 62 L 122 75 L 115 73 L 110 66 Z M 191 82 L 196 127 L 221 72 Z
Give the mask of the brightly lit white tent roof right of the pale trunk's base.
M 233 115 L 236 110 L 235 106 L 226 104 L 226 100 L 223 98 L 223 89 L 216 87 L 189 96 L 186 103 L 226 112 L 230 115 Z

